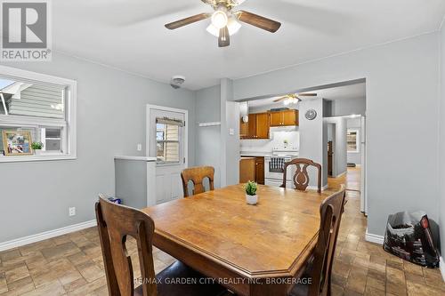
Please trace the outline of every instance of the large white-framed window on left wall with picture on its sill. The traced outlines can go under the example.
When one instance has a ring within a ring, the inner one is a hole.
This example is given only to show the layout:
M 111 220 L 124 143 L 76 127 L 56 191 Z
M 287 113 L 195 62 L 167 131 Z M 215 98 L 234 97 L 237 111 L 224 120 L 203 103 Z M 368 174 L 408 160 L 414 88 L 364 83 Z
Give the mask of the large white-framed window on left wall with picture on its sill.
M 0 66 L 0 162 L 75 158 L 75 111 L 75 81 Z M 8 156 L 4 131 L 29 132 L 43 148 Z

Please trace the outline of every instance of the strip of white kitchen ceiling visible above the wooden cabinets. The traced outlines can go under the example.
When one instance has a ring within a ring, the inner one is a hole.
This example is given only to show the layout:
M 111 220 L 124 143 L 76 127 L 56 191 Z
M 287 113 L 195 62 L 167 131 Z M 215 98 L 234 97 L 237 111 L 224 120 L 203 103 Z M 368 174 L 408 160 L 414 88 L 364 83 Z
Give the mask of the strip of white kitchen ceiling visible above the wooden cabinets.
M 315 90 L 312 92 L 317 93 L 317 98 L 326 100 L 363 99 L 366 98 L 366 83 L 330 87 L 323 90 Z M 277 108 L 283 107 L 282 102 L 273 102 L 273 100 L 276 100 L 277 98 L 278 97 L 260 100 L 249 100 L 248 106 L 249 108 L 271 105 L 277 105 Z M 311 100 L 314 98 L 315 97 L 302 97 L 303 100 Z

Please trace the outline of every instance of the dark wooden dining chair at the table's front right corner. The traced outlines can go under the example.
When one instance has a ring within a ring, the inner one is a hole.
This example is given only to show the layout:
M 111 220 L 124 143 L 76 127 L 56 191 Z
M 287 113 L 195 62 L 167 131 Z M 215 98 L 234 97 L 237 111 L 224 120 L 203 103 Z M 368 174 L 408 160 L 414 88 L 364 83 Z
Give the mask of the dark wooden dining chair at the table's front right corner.
M 289 296 L 331 295 L 331 275 L 336 240 L 344 212 L 344 185 L 320 205 L 320 231 L 312 257 L 300 279 L 311 278 L 311 284 L 295 284 Z

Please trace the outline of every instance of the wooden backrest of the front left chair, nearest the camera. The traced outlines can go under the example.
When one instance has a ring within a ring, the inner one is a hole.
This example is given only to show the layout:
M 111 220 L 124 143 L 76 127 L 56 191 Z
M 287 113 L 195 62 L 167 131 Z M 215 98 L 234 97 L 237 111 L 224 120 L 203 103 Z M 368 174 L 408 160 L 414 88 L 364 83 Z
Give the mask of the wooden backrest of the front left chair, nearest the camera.
M 113 204 L 104 196 L 100 196 L 96 203 L 96 219 L 109 295 L 134 295 L 133 265 L 125 247 L 126 237 L 133 236 L 138 245 L 143 296 L 156 296 L 158 291 L 152 256 L 153 220 L 139 210 Z

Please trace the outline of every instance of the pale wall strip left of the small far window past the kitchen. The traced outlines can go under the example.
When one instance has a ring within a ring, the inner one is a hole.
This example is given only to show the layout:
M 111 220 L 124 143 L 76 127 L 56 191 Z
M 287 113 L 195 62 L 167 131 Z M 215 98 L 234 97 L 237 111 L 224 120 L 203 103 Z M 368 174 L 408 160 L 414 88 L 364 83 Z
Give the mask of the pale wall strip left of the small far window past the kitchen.
M 346 118 L 344 117 L 333 117 L 325 118 L 328 124 L 335 124 L 336 126 L 336 142 L 334 158 L 336 159 L 336 171 L 333 172 L 335 176 L 338 176 L 347 170 L 347 149 L 346 149 Z M 327 164 L 328 165 L 328 164 Z M 328 166 L 327 166 L 328 168 Z

